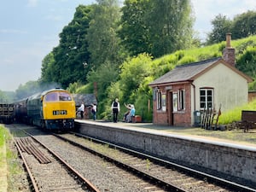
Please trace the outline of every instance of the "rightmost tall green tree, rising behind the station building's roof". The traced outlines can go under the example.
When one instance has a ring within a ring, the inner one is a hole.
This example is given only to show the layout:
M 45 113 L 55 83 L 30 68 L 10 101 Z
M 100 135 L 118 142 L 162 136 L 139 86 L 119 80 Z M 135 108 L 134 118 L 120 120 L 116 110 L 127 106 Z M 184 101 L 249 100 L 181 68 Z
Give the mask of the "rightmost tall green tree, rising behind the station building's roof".
M 188 49 L 192 44 L 194 17 L 189 0 L 149 0 L 147 12 L 149 39 L 154 57 Z

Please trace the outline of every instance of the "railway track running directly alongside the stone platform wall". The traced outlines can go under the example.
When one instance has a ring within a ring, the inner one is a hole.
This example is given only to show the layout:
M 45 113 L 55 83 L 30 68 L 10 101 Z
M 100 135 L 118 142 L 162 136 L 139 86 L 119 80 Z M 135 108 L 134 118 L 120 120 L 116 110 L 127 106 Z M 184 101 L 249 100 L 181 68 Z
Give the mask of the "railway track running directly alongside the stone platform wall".
M 204 172 L 198 172 L 184 166 L 160 160 L 147 154 L 141 154 L 131 149 L 122 148 L 111 143 L 85 137 L 79 133 L 71 135 L 58 135 L 65 141 L 89 149 L 92 153 L 98 154 L 115 164 L 125 167 L 157 183 L 168 191 L 255 191 L 237 183 L 213 177 Z M 81 137 L 79 139 L 78 137 Z M 84 139 L 85 138 L 85 139 Z M 74 142 L 75 141 L 75 142 Z M 93 144 L 94 143 L 98 143 Z

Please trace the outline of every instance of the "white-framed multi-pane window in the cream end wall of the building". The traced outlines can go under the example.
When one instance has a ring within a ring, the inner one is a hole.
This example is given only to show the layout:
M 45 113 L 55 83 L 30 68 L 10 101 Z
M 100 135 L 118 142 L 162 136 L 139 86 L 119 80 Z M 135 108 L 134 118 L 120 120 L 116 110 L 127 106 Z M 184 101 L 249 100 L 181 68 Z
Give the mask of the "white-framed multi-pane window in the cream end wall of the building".
M 200 89 L 200 108 L 201 109 L 213 108 L 213 89 L 212 88 Z

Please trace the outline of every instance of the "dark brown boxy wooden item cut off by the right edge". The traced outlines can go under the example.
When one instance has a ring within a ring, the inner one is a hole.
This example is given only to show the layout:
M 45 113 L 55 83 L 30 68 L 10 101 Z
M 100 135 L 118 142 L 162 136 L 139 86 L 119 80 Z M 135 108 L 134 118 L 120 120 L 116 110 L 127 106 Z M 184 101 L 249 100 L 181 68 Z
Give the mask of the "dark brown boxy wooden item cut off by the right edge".
M 241 111 L 241 129 L 244 132 L 249 131 L 249 129 L 256 128 L 256 111 Z

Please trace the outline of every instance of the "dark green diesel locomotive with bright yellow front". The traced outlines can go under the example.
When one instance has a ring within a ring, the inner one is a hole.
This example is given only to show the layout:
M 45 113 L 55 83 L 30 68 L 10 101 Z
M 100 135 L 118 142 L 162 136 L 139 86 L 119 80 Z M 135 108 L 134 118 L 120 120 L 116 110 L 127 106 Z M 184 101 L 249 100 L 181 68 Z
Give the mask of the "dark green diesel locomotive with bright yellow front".
M 17 121 L 47 130 L 73 129 L 75 118 L 75 102 L 67 90 L 45 90 L 15 102 Z

